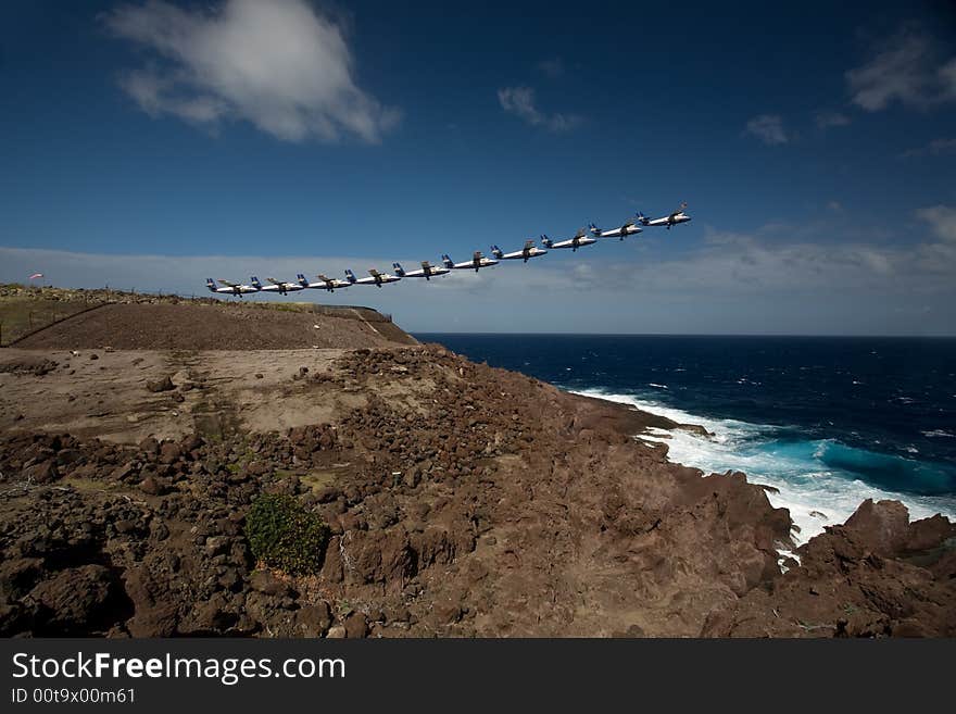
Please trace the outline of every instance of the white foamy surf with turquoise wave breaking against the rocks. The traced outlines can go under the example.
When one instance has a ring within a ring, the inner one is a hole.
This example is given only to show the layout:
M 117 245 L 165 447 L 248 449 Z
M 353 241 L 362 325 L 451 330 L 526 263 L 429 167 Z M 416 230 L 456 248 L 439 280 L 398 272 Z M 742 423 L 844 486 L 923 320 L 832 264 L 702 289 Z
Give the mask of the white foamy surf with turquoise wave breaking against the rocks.
M 778 426 L 697 416 L 652 400 L 601 389 L 576 390 L 576 393 L 630 404 L 679 424 L 703 426 L 713 438 L 679 429 L 651 429 L 641 438 L 666 443 L 671 462 L 700 468 L 705 474 L 742 471 L 751 483 L 776 488 L 778 492 L 768 491 L 767 498 L 775 508 L 790 511 L 790 517 L 800 528 L 800 533 L 794 534 L 797 543 L 823 533 L 823 526 L 843 523 L 868 498 L 902 501 L 909 509 L 911 519 L 936 513 L 956 519 L 956 499 L 951 497 L 886 491 L 848 478 L 847 474 L 826 469 L 818 459 L 832 440 L 815 443 L 814 450 L 797 450 L 775 440 L 780 431 Z

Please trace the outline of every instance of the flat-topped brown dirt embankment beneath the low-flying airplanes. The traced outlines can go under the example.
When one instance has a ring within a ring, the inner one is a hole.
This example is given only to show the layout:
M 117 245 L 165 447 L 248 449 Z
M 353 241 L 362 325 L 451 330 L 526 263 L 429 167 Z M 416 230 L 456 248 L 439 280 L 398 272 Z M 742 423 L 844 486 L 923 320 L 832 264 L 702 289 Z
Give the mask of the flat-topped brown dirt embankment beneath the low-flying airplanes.
M 320 312 L 183 302 L 110 303 L 15 342 L 21 349 L 239 350 L 382 347 L 415 339 L 367 308 Z

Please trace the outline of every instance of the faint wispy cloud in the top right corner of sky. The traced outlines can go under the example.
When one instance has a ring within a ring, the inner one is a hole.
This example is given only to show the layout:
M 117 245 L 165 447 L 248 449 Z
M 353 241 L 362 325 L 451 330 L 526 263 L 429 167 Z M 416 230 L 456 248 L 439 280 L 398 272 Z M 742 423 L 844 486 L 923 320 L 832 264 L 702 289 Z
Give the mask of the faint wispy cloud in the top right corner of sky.
M 869 61 L 846 73 L 852 101 L 876 112 L 894 101 L 928 109 L 956 100 L 956 58 L 941 62 L 927 34 L 907 28 L 880 45 Z

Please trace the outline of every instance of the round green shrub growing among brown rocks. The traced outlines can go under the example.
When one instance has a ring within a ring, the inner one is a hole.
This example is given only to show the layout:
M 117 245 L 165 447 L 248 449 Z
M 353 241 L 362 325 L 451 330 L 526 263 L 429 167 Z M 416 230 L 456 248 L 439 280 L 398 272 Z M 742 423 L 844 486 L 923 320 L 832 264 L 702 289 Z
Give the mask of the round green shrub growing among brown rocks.
M 329 529 L 293 497 L 263 493 L 246 516 L 246 537 L 256 561 L 307 575 L 322 567 Z

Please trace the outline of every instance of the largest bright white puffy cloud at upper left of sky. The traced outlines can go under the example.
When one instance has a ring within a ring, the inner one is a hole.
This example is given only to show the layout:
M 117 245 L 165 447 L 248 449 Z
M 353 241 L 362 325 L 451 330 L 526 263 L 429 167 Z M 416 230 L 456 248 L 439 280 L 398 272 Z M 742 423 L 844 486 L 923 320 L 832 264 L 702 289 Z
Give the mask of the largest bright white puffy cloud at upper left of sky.
M 162 0 L 103 16 L 148 53 L 122 87 L 152 116 L 215 127 L 248 121 L 279 139 L 377 142 L 400 117 L 355 83 L 342 28 L 304 0 L 224 0 L 181 10 Z

